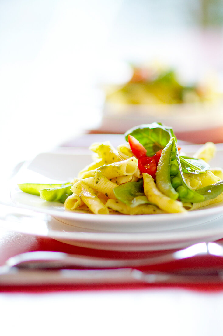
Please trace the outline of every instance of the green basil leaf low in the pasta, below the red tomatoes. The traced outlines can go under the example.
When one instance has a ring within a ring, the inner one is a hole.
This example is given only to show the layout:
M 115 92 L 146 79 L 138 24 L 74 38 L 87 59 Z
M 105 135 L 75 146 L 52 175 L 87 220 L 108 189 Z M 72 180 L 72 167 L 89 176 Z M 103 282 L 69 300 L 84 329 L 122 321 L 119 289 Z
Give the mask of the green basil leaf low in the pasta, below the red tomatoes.
M 119 185 L 114 189 L 114 194 L 119 201 L 132 208 L 140 204 L 151 204 L 144 194 L 143 179 Z

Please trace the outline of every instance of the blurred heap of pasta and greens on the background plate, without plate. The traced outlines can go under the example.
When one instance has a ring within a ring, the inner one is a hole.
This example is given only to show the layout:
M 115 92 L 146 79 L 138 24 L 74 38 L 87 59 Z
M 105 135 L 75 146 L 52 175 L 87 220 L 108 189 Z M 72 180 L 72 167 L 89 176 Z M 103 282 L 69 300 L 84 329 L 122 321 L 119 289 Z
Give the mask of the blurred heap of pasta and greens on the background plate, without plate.
M 105 99 L 122 104 L 176 104 L 217 98 L 212 82 L 185 85 L 176 70 L 162 66 L 132 66 L 132 77 L 123 85 L 105 87 Z

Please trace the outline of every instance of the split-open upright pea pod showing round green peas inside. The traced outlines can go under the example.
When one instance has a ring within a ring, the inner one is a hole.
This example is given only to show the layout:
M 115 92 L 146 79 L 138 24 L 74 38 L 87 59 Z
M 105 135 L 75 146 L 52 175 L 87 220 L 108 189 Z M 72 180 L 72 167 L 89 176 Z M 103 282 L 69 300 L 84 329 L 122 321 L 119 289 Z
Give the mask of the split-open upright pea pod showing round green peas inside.
M 204 196 L 191 190 L 185 182 L 175 138 L 172 137 L 163 149 L 156 172 L 158 189 L 172 199 L 183 202 L 202 202 Z

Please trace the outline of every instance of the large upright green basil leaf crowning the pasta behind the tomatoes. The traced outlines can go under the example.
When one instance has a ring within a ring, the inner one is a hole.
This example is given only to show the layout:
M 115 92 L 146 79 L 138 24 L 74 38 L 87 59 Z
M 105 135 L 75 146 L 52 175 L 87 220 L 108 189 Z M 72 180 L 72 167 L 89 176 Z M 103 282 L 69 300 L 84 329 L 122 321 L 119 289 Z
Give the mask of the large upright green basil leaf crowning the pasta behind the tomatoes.
M 129 129 L 125 133 L 126 141 L 128 141 L 129 134 L 146 148 L 147 156 L 153 156 L 157 151 L 163 149 L 172 136 L 176 140 L 172 128 L 161 123 L 144 124 Z

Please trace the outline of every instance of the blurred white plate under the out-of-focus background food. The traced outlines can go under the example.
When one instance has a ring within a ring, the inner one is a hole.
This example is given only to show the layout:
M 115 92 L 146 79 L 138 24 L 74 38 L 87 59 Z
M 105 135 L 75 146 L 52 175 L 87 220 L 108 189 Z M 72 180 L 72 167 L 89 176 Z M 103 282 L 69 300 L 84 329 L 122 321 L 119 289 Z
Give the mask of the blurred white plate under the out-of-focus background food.
M 208 130 L 223 126 L 222 106 L 222 100 L 160 105 L 105 103 L 99 129 L 124 133 L 135 125 L 158 120 L 177 133 Z

